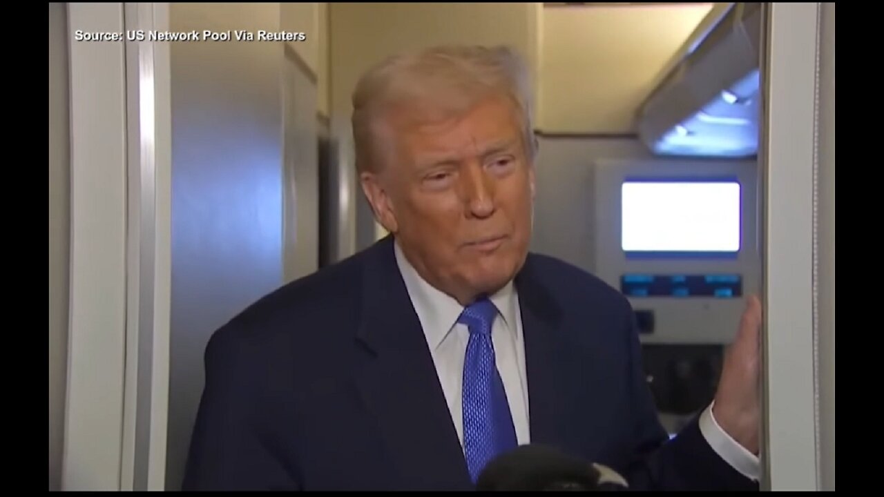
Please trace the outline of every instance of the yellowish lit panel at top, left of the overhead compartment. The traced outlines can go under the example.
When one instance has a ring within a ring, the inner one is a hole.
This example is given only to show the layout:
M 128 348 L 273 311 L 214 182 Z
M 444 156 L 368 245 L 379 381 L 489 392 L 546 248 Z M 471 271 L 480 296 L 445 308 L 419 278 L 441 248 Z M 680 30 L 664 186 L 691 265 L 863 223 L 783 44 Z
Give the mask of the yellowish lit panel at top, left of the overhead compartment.
M 634 133 L 636 109 L 712 7 L 543 9 L 538 127 L 546 133 Z

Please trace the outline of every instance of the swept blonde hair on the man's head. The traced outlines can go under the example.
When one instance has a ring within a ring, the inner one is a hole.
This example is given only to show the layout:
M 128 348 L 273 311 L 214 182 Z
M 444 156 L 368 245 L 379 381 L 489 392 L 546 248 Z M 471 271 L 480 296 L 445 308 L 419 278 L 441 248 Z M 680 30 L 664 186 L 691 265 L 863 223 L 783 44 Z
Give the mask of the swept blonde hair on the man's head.
M 460 116 L 488 96 L 506 96 L 522 120 L 526 152 L 535 152 L 534 103 L 522 57 L 508 47 L 438 46 L 385 59 L 353 93 L 356 169 L 373 171 L 385 113 L 405 108 L 415 121 Z

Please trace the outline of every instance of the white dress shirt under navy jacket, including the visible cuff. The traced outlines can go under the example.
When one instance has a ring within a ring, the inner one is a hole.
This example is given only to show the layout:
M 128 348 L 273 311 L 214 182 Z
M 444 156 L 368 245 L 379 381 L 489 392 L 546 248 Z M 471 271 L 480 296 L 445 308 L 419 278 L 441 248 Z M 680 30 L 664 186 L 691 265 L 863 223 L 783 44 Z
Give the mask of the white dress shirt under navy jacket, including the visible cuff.
M 463 306 L 453 297 L 432 287 L 408 263 L 398 243 L 393 243 L 396 263 L 408 290 L 412 305 L 421 321 L 423 333 L 430 347 L 439 382 L 445 393 L 454 428 L 463 445 L 463 417 L 461 388 L 463 361 L 467 351 L 469 330 L 457 323 Z M 525 368 L 525 347 L 522 333 L 522 312 L 519 296 L 512 282 L 491 295 L 490 300 L 499 310 L 492 325 L 492 343 L 497 369 L 507 393 L 513 416 L 515 435 L 519 445 L 530 443 L 528 380 Z M 747 478 L 758 481 L 760 463 L 756 455 L 724 432 L 712 414 L 712 406 L 700 416 L 700 432 L 718 455 Z

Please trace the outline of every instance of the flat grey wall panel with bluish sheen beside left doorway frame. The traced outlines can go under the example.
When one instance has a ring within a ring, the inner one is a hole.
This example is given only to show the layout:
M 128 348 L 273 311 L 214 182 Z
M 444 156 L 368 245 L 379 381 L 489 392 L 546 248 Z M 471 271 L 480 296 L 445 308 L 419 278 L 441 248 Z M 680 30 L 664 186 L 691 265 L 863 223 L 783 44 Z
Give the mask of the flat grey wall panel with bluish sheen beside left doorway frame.
M 278 30 L 278 4 L 170 4 L 173 31 Z M 283 268 L 283 58 L 271 43 L 171 44 L 166 488 L 180 488 L 213 333 Z

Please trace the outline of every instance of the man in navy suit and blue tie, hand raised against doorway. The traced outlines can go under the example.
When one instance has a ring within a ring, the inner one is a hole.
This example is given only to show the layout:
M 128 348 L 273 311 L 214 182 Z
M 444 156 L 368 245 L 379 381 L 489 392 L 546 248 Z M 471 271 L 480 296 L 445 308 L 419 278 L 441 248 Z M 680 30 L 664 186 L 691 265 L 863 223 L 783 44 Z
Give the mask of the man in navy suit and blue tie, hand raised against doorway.
M 629 302 L 528 252 L 536 141 L 518 57 L 392 57 L 353 104 L 363 192 L 390 235 L 213 335 L 185 489 L 469 490 L 528 443 L 634 489 L 758 489 L 758 301 L 713 405 L 669 440 Z

